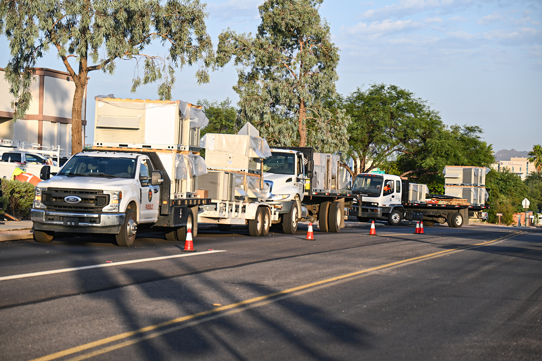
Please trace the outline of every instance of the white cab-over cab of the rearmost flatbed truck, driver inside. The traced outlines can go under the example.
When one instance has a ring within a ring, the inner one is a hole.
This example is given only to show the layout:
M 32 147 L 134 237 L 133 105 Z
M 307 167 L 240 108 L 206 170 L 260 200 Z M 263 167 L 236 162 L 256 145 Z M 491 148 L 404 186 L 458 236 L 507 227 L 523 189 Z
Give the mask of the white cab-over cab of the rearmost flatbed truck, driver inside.
M 352 193 L 361 196 L 361 204 L 354 201 L 350 214 L 356 215 L 360 222 L 381 219 L 388 220 L 390 225 L 398 225 L 404 217 L 403 188 L 403 181 L 397 175 L 358 174 Z

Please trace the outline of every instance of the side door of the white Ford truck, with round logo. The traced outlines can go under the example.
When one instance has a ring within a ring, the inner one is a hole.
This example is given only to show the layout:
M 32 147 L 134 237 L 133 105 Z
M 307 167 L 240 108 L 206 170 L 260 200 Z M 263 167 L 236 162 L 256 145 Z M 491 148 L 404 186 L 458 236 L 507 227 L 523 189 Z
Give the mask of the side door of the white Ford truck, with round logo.
M 151 185 L 151 170 L 152 165 L 149 159 L 142 159 L 139 166 L 139 201 L 140 201 L 140 218 L 141 223 L 156 222 L 158 220 L 159 211 L 159 186 Z

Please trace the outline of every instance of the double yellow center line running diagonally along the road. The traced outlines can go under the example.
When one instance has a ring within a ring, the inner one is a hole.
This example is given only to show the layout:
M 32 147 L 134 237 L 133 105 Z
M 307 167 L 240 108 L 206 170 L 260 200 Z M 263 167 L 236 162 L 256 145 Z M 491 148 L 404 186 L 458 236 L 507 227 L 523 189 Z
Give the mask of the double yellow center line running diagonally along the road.
M 114 344 L 114 345 L 111 345 L 111 346 L 103 347 L 103 348 L 101 348 L 99 350 L 87 352 L 87 353 L 84 353 L 84 354 L 82 354 L 80 356 L 70 358 L 68 361 L 79 361 L 79 360 L 91 358 L 91 357 L 94 357 L 94 356 L 101 355 L 103 353 L 107 353 L 107 352 L 110 352 L 110 351 L 113 351 L 113 350 L 121 349 L 122 347 L 130 346 L 130 345 L 142 342 L 144 340 L 148 340 L 148 339 L 151 339 L 151 338 L 154 338 L 154 337 L 162 336 L 163 334 L 166 334 L 166 333 L 174 332 L 174 331 L 177 331 L 177 330 L 180 330 L 180 329 L 185 329 L 186 327 L 191 327 L 191 326 L 194 326 L 194 325 L 206 322 L 206 321 L 210 321 L 210 320 L 213 320 L 213 319 L 229 316 L 230 314 L 246 311 L 246 310 L 249 310 L 249 309 L 253 309 L 255 307 L 264 306 L 264 305 L 274 303 L 276 301 L 279 301 L 279 300 L 282 300 L 282 299 L 285 299 L 285 298 L 299 296 L 300 294 L 313 292 L 313 291 L 316 291 L 316 290 L 320 290 L 321 288 L 330 287 L 330 286 L 333 286 L 333 285 L 336 285 L 336 284 L 339 284 L 339 283 L 343 283 L 343 282 L 351 281 L 351 280 L 354 280 L 354 279 L 358 279 L 360 277 L 365 277 L 367 275 L 375 273 L 376 271 L 382 271 L 382 270 L 387 270 L 387 269 L 391 269 L 391 268 L 395 268 L 395 267 L 401 267 L 401 266 L 405 266 L 405 265 L 412 264 L 412 263 L 415 263 L 415 262 L 419 262 L 419 261 L 422 261 L 422 260 L 442 257 L 443 255 L 450 254 L 450 253 L 465 251 L 465 250 L 469 250 L 470 248 L 476 248 L 476 247 L 480 247 L 480 246 L 489 245 L 489 244 L 492 244 L 492 243 L 495 243 L 495 242 L 499 242 L 499 241 L 503 241 L 503 240 L 512 238 L 512 237 L 514 237 L 515 235 L 517 235 L 519 233 L 521 233 L 521 232 L 520 231 L 514 232 L 513 234 L 509 234 L 509 235 L 506 235 L 505 237 L 501 237 L 501 238 L 494 239 L 494 240 L 491 240 L 491 241 L 481 242 L 481 243 L 470 245 L 470 246 L 457 247 L 457 248 L 454 248 L 452 250 L 445 250 L 445 251 L 425 254 L 425 255 L 421 255 L 419 257 L 409 258 L 409 259 L 405 259 L 405 260 L 402 260 L 402 261 L 396 261 L 396 262 L 392 262 L 392 263 L 385 264 L 385 265 L 382 265 L 382 266 L 367 268 L 366 270 L 347 273 L 347 274 L 339 275 L 337 277 L 332 277 L 332 278 L 320 280 L 320 281 L 317 281 L 317 282 L 309 283 L 309 284 L 306 284 L 306 285 L 293 287 L 293 288 L 288 288 L 287 290 L 283 290 L 283 291 L 279 291 L 279 292 L 275 292 L 275 293 L 270 293 L 270 294 L 267 294 L 266 296 L 254 297 L 254 298 L 244 300 L 244 301 L 241 301 L 241 302 L 237 302 L 237 303 L 233 303 L 233 304 L 229 304 L 229 305 L 225 305 L 225 306 L 221 306 L 221 307 L 216 307 L 216 309 L 207 310 L 207 311 L 203 311 L 203 312 L 198 312 L 198 313 L 191 314 L 189 316 L 183 316 L 183 317 L 179 317 L 179 318 L 176 318 L 176 319 L 165 321 L 165 322 L 162 322 L 162 323 L 159 323 L 159 324 L 156 324 L 156 325 L 143 327 L 143 328 L 141 328 L 139 330 L 124 332 L 124 333 L 117 334 L 115 336 L 102 338 L 100 340 L 96 340 L 96 341 L 91 342 L 91 343 L 87 343 L 87 344 L 84 344 L 84 345 L 72 347 L 71 349 L 51 353 L 50 355 L 35 358 L 33 360 L 30 360 L 30 361 L 54 360 L 54 359 L 57 359 L 57 358 L 73 355 L 74 353 L 78 353 L 78 352 L 81 352 L 81 351 L 93 349 L 94 347 L 106 345 L 106 344 L 109 344 L 109 343 L 112 343 L 112 342 L 115 342 L 115 341 L 118 341 L 118 340 L 133 337 L 132 339 L 126 340 L 125 342 L 121 342 L 121 343 L 117 343 L 117 344 Z M 235 310 L 232 310 L 232 309 L 235 309 Z M 221 311 L 227 311 L 227 312 L 221 312 Z M 209 316 L 209 315 L 212 315 L 212 316 Z M 209 316 L 209 317 L 201 318 L 203 316 Z M 167 327 L 167 329 L 165 329 L 165 330 L 156 331 L 158 329 L 162 329 L 163 327 L 175 325 L 175 324 L 181 323 L 183 321 L 188 321 L 188 320 L 194 320 L 194 321 L 189 322 L 189 323 L 183 323 L 182 325 Z M 147 333 L 149 331 L 156 331 L 156 332 Z M 143 334 L 143 333 L 147 333 L 147 334 Z

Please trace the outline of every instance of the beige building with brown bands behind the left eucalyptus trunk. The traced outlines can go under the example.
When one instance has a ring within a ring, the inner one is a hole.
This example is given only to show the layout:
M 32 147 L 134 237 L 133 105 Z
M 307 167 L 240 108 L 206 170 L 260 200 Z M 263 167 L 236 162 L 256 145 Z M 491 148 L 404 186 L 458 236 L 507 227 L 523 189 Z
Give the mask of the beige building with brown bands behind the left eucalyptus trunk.
M 88 82 L 88 80 L 87 80 Z M 72 103 L 75 83 L 69 73 L 36 68 L 31 88 L 32 101 L 24 119 L 12 122 L 14 109 L 9 83 L 0 68 L 0 139 L 38 143 L 45 148 L 72 149 Z M 82 130 L 85 143 L 87 91 L 83 98 Z M 62 152 L 62 151 L 61 151 Z

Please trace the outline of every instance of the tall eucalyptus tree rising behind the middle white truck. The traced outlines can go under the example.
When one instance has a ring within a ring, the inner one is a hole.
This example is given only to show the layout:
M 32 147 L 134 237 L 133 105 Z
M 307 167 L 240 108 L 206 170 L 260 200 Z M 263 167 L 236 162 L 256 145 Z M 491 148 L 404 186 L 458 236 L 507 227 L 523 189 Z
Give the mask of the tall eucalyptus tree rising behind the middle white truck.
M 276 146 L 347 151 L 349 117 L 322 105 L 335 95 L 339 49 L 320 17 L 323 0 L 267 0 L 253 37 L 227 29 L 219 36 L 217 66 L 234 59 L 242 122 Z

